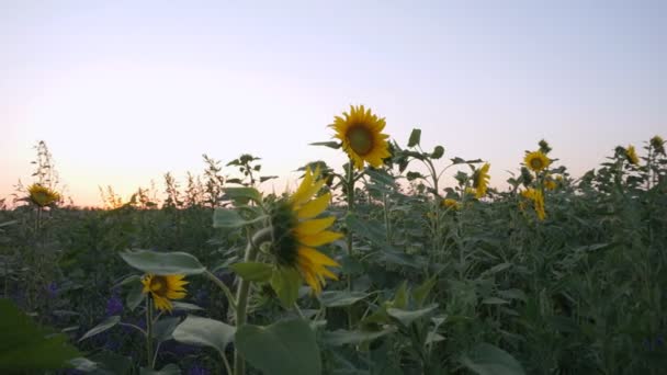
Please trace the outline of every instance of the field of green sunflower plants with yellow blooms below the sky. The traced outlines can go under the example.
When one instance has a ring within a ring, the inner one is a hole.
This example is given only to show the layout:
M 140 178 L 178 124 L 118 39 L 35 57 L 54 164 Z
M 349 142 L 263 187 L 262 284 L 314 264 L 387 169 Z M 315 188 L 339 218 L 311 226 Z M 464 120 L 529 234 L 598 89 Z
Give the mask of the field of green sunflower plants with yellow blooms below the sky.
M 505 182 L 383 130 L 351 107 L 316 144 L 349 162 L 282 195 L 206 157 L 105 209 L 65 204 L 41 144 L 0 211 L 0 372 L 664 374 L 659 136 L 583 177 L 542 140 Z

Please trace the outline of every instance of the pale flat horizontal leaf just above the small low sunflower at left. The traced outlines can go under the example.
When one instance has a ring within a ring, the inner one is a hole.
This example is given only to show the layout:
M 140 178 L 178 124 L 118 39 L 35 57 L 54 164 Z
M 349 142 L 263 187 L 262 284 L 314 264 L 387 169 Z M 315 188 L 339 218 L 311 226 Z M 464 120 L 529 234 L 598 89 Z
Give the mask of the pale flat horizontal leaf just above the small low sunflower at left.
M 195 275 L 206 271 L 194 255 L 186 252 L 135 250 L 121 252 L 121 257 L 135 269 L 157 275 Z

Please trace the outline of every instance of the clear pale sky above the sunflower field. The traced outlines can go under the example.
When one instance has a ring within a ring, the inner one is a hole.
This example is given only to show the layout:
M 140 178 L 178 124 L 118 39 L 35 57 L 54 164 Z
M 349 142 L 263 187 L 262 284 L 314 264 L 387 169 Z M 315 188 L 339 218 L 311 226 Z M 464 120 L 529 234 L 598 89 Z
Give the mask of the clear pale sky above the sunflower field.
M 0 0 L 0 197 L 31 181 L 41 139 L 77 204 L 182 181 L 202 154 L 294 181 L 342 163 L 308 144 L 350 104 L 402 145 L 420 127 L 445 157 L 488 160 L 491 183 L 543 137 L 580 174 L 667 137 L 665 20 L 659 0 Z

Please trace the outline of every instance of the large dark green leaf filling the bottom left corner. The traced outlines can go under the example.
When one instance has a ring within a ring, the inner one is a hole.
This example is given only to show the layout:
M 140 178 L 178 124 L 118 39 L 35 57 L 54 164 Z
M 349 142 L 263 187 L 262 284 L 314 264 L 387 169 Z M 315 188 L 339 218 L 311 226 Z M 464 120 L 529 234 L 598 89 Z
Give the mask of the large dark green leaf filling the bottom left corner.
M 37 326 L 9 299 L 0 299 L 0 373 L 72 367 L 81 354 L 64 334 Z

